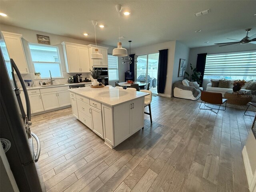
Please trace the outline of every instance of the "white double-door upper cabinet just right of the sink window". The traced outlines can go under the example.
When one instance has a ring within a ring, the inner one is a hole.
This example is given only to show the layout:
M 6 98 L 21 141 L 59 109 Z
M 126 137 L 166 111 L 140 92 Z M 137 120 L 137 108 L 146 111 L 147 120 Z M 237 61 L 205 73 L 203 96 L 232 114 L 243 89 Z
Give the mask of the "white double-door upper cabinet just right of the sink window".
M 89 72 L 90 62 L 86 45 L 62 42 L 67 73 Z

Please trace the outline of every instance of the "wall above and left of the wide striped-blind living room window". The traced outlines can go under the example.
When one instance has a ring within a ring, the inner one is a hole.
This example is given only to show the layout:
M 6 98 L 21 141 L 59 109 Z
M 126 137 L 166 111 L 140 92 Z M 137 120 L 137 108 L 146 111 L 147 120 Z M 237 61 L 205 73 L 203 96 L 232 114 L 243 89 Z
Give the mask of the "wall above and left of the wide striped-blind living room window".
M 214 46 L 206 46 L 206 47 L 198 47 L 198 48 L 191 48 L 189 52 L 189 62 L 192 64 L 193 68 L 196 68 L 196 60 L 197 54 L 207 53 L 207 54 L 218 54 L 218 53 L 226 53 L 226 52 L 238 52 L 238 51 L 249 51 L 249 50 L 256 50 L 256 44 L 246 44 L 246 45 L 229 45 L 219 47 L 218 45 Z M 187 65 L 187 72 L 190 71 Z M 203 88 L 206 90 L 206 85 L 210 82 L 210 80 L 203 81 Z

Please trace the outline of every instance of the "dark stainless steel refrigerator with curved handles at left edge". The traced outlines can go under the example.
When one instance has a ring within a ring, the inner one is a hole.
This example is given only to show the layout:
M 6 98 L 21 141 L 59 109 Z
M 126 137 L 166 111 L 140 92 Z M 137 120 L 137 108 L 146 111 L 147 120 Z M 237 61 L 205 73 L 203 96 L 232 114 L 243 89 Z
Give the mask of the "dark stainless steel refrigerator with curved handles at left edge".
M 4 38 L 0 34 L 0 140 L 20 192 L 42 192 L 45 191 L 44 184 L 39 180 L 35 165 L 40 156 L 40 141 L 30 131 L 28 92 L 15 62 L 9 58 Z M 15 76 L 22 84 L 26 112 Z

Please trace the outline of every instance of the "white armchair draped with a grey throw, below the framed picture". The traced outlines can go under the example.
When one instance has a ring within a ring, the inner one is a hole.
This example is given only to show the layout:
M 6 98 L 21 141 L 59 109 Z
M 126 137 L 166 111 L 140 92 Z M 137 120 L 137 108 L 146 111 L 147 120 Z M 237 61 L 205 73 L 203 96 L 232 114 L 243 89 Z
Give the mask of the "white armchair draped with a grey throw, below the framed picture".
M 178 98 L 198 100 L 202 90 L 202 87 L 184 86 L 182 81 L 177 81 L 173 84 L 173 96 Z

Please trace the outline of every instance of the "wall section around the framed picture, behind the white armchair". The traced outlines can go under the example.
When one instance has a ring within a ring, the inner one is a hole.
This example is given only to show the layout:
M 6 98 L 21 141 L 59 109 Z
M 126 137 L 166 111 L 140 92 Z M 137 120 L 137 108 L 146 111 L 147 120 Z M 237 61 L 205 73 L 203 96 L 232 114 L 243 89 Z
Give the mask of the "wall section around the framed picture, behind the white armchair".
M 180 63 L 180 59 L 185 59 L 186 60 L 186 69 L 187 69 L 189 66 L 188 58 L 189 58 L 189 48 L 186 45 L 176 41 L 172 84 L 174 84 L 174 82 L 176 82 L 176 81 L 181 81 L 184 79 L 185 76 L 178 77 L 179 63 Z

